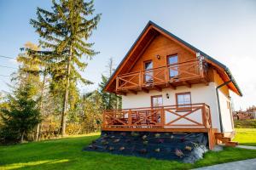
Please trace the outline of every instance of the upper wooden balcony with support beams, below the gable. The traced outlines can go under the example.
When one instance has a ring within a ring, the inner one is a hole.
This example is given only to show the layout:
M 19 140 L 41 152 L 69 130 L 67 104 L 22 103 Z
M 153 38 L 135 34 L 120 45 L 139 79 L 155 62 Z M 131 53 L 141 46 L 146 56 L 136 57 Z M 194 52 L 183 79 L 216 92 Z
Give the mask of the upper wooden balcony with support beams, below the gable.
M 207 62 L 194 59 L 175 65 L 165 65 L 147 71 L 130 72 L 116 78 L 117 93 L 148 92 L 149 89 L 176 88 L 177 86 L 207 82 Z

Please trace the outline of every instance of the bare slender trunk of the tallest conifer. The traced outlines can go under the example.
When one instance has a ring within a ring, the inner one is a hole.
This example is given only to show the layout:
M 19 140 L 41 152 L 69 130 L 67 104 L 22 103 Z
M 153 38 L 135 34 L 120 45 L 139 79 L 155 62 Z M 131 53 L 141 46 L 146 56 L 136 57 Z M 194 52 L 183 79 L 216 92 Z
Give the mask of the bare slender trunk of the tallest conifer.
M 66 131 L 66 119 L 67 119 L 67 110 L 68 110 L 68 93 L 69 93 L 69 76 L 70 76 L 70 70 L 71 70 L 71 56 L 72 56 L 72 48 L 69 53 L 68 61 L 67 61 L 67 84 L 65 88 L 65 98 L 63 101 L 63 109 L 62 109 L 62 115 L 61 115 L 61 136 L 65 136 Z

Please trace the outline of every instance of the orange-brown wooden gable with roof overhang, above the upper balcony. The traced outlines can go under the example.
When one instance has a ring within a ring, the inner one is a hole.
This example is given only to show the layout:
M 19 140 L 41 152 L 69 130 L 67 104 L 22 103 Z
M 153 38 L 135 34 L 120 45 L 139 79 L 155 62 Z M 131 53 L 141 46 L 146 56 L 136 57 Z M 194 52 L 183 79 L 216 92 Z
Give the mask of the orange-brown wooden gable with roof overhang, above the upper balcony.
M 172 33 L 149 21 L 112 77 L 110 77 L 104 89 L 105 91 L 115 93 L 116 77 L 130 72 L 143 71 L 143 62 L 146 60 L 151 59 L 154 68 L 156 68 L 167 64 L 166 57 L 168 55 L 177 54 L 178 62 L 184 62 L 196 59 L 196 53 L 200 53 L 207 58 L 209 66 L 218 71 L 218 74 L 222 77 L 224 82 L 230 80 L 230 75 L 226 71 L 226 68 L 217 60 L 212 59 L 199 49 L 194 48 L 189 43 L 184 42 Z M 156 55 L 159 55 L 160 59 L 157 59 Z M 235 80 L 229 83 L 228 87 L 236 94 L 242 95 Z

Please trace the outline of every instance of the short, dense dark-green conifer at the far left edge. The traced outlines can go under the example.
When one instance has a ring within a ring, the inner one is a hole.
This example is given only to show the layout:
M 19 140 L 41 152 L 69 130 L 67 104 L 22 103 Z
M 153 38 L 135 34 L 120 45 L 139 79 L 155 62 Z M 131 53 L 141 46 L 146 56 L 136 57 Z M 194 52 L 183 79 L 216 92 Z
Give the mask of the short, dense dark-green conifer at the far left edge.
M 8 97 L 8 107 L 1 110 L 3 127 L 0 136 L 5 142 L 23 142 L 25 136 L 41 122 L 35 87 L 26 83 Z

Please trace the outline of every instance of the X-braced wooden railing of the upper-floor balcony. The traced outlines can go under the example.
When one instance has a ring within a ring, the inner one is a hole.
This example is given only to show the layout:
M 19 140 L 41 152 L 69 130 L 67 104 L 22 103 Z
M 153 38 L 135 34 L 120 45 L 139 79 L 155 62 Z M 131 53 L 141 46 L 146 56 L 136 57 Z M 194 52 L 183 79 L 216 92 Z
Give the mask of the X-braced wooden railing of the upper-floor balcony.
M 143 88 L 204 77 L 207 77 L 207 62 L 203 59 L 193 59 L 175 65 L 165 65 L 147 71 L 119 75 L 116 78 L 116 90 Z

